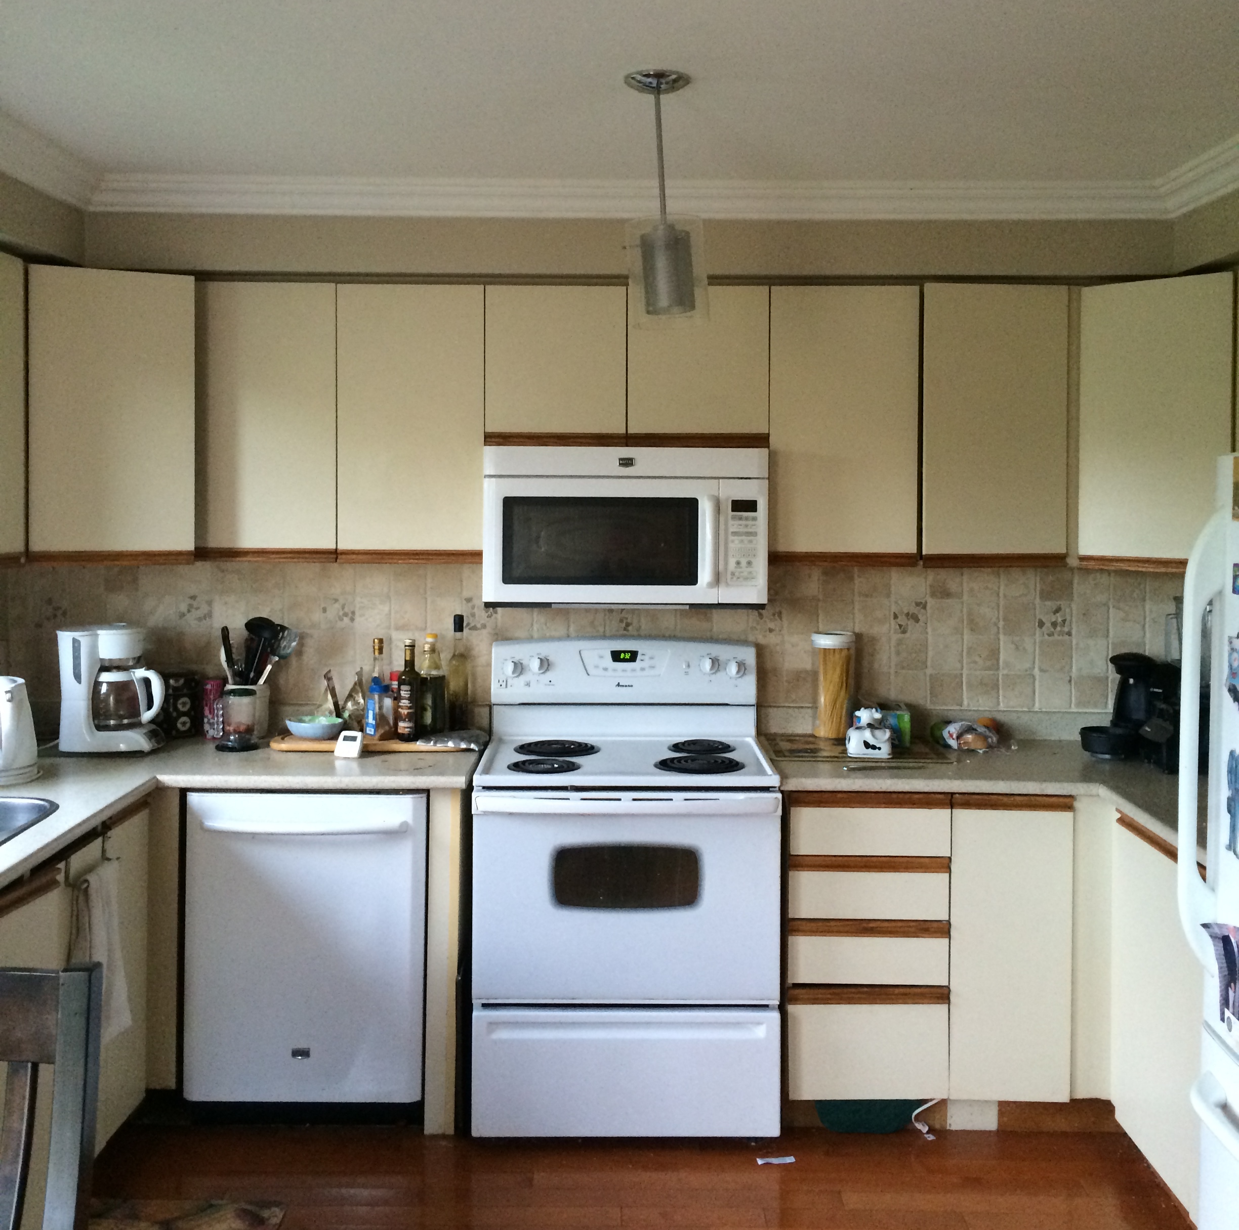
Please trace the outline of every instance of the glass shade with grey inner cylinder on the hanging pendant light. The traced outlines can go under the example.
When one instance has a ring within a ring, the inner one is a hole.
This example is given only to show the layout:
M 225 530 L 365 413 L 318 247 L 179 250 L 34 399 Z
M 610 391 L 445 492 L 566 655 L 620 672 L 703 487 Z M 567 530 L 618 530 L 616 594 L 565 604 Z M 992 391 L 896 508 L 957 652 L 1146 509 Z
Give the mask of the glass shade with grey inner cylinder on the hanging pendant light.
M 668 328 L 710 318 L 701 219 L 636 218 L 627 224 L 628 322 Z

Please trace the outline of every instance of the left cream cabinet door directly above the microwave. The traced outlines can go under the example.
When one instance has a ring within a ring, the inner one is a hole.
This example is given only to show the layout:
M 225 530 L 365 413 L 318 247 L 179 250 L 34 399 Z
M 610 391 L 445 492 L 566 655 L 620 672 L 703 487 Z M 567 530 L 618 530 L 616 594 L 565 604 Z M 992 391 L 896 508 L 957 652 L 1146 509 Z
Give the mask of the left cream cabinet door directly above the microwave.
M 623 435 L 627 289 L 486 287 L 486 430 Z

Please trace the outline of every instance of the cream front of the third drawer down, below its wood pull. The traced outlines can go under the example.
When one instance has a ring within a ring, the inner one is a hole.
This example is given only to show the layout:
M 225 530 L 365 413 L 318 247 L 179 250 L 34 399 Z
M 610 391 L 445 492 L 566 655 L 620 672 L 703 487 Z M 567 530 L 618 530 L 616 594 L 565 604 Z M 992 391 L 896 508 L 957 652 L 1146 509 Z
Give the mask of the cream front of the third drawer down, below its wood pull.
M 789 935 L 788 982 L 947 986 L 950 940 Z

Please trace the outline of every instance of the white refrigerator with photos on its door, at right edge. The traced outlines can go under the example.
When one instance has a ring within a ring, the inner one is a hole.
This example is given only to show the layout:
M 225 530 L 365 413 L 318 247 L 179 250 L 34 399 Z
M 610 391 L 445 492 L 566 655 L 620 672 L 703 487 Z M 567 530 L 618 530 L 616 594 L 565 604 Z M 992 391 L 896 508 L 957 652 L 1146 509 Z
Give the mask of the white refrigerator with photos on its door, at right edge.
M 1213 603 L 1209 679 L 1208 878 L 1197 872 L 1202 614 Z M 1239 453 L 1218 458 L 1217 504 L 1183 581 L 1178 767 L 1178 910 L 1204 966 L 1199 1230 L 1239 1225 Z

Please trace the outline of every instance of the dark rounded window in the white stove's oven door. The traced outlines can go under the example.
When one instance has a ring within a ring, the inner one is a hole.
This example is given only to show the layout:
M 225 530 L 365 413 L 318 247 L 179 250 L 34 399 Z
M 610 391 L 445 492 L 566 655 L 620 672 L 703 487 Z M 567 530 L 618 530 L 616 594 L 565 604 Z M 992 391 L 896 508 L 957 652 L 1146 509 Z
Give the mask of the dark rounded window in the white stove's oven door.
M 574 909 L 676 909 L 696 904 L 701 860 L 688 846 L 560 846 L 551 883 Z

